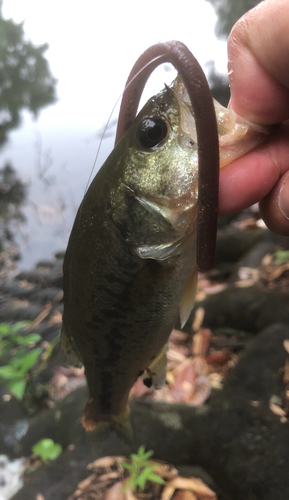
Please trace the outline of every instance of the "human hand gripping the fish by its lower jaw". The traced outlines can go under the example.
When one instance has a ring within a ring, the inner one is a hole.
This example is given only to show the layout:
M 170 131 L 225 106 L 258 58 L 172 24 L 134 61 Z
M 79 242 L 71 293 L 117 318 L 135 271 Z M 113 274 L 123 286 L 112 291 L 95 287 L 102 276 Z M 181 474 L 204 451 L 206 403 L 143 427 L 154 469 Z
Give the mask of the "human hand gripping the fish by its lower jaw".
M 228 40 L 230 107 L 261 125 L 280 123 L 255 150 L 221 170 L 220 215 L 260 201 L 270 229 L 289 235 L 289 2 L 266 0 Z

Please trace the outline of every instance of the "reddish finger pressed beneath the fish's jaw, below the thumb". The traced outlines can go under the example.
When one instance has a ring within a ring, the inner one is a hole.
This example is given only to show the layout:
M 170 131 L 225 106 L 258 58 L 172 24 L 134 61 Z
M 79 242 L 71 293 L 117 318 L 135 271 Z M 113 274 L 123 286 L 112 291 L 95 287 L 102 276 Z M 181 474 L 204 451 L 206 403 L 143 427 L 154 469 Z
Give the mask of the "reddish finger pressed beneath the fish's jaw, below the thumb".
M 221 169 L 219 214 L 247 208 L 267 196 L 289 169 L 289 123 L 258 148 Z

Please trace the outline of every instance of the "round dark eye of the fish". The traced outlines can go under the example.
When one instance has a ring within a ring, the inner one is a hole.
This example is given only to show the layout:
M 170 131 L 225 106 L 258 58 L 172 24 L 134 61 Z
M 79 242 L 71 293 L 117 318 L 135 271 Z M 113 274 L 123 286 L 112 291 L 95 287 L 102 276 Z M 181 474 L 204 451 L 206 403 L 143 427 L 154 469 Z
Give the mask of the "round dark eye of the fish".
M 166 137 L 168 127 L 162 118 L 145 118 L 139 125 L 137 135 L 144 148 L 154 149 Z

